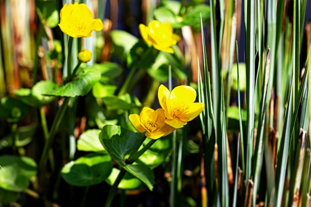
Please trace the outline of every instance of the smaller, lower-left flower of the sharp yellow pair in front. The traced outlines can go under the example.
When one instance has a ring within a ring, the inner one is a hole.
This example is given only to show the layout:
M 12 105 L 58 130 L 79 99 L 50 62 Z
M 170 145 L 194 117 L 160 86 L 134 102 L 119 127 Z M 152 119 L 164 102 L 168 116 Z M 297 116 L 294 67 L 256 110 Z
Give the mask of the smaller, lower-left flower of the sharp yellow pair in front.
M 175 128 L 165 124 L 163 109 L 153 110 L 149 107 L 144 107 L 140 115 L 131 114 L 128 118 L 138 132 L 146 132 L 146 137 L 150 137 L 151 139 L 159 139 L 175 130 Z

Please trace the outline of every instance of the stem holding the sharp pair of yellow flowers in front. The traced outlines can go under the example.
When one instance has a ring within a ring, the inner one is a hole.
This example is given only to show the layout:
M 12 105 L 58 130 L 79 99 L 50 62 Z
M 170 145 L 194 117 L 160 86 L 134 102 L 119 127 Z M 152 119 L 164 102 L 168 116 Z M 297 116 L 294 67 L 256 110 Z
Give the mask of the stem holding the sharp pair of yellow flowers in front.
M 141 145 L 138 145 L 139 147 L 136 147 L 133 152 L 131 153 L 131 155 L 129 156 L 127 163 L 128 164 L 132 164 L 134 163 L 142 154 L 144 154 L 145 151 L 147 151 L 155 142 L 157 141 L 157 139 L 151 139 L 140 151 L 138 151 L 138 149 L 140 148 Z M 134 151 L 136 151 L 136 153 L 134 153 Z M 138 152 L 137 152 L 138 151 Z M 113 186 L 111 187 L 108 197 L 107 197 L 107 201 L 105 204 L 105 207 L 109 207 L 111 205 L 111 202 L 114 198 L 114 195 L 116 194 L 117 190 L 118 190 L 118 185 L 121 182 L 122 178 L 124 177 L 126 173 L 125 169 L 121 169 L 120 173 L 118 174 L 117 179 L 114 181 Z

